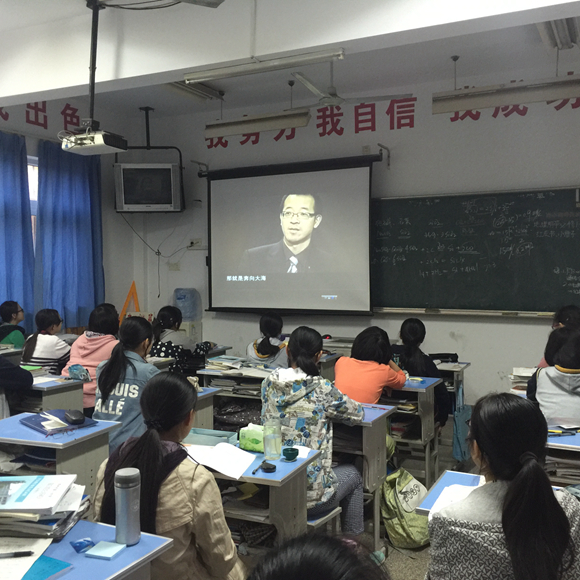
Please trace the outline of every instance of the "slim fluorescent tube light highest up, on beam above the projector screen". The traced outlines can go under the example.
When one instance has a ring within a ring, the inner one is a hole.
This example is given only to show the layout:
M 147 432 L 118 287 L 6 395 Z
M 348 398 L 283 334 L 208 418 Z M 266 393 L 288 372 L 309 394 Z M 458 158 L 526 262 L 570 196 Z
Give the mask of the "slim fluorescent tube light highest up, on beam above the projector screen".
M 183 78 L 187 84 L 203 83 L 217 79 L 241 77 L 260 72 L 284 70 L 297 66 L 305 66 L 308 64 L 330 62 L 331 60 L 342 59 L 344 59 L 344 50 L 340 48 L 337 50 L 325 50 L 321 52 L 310 52 L 307 54 L 299 54 L 295 56 L 285 56 L 282 58 L 274 58 L 272 60 L 256 60 L 255 62 L 249 62 L 245 64 L 236 64 L 233 66 L 225 66 L 211 70 L 188 73 Z

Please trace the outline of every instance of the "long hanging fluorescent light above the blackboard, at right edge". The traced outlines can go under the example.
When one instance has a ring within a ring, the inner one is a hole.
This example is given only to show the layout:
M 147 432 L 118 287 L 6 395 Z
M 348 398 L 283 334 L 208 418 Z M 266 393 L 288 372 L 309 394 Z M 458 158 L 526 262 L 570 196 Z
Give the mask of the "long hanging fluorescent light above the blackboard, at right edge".
M 434 115 L 580 97 L 580 75 L 433 93 Z

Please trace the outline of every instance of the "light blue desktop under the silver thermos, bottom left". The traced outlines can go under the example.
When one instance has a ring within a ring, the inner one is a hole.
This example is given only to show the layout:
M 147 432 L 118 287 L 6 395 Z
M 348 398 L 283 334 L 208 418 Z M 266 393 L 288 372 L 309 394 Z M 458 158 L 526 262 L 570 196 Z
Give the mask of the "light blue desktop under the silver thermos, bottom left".
M 168 550 L 173 540 L 141 532 L 141 540 L 128 546 L 112 560 L 95 560 L 77 554 L 70 542 L 82 538 L 115 541 L 115 526 L 80 520 L 61 542 L 53 542 L 44 552 L 45 556 L 72 564 L 64 572 L 66 580 L 149 580 L 151 560 Z

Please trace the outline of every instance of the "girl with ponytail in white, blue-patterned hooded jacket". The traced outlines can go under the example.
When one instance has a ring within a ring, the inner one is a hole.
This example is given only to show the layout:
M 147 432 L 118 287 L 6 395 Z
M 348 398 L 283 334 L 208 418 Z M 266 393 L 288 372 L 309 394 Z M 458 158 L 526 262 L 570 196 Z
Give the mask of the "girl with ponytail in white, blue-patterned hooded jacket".
M 320 451 L 308 465 L 306 507 L 318 516 L 342 507 L 342 531 L 364 530 L 362 478 L 354 465 L 332 463 L 332 421 L 355 425 L 363 419 L 361 405 L 320 376 L 322 337 L 298 327 L 288 341 L 290 368 L 276 369 L 262 383 L 262 421 L 279 419 L 283 445 L 304 445 Z

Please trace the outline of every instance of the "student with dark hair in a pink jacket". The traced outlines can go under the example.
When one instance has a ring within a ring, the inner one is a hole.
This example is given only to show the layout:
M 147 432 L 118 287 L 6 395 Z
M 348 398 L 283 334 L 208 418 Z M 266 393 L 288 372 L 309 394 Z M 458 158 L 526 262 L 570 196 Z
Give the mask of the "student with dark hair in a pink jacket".
M 89 327 L 73 343 L 70 360 L 62 374 L 68 376 L 72 365 L 82 365 L 91 376 L 92 381 L 83 386 L 83 411 L 87 417 L 93 416 L 95 410 L 95 393 L 97 391 L 97 366 L 111 358 L 111 352 L 119 342 L 115 336 L 119 332 L 119 315 L 108 305 L 97 306 L 89 316 Z

